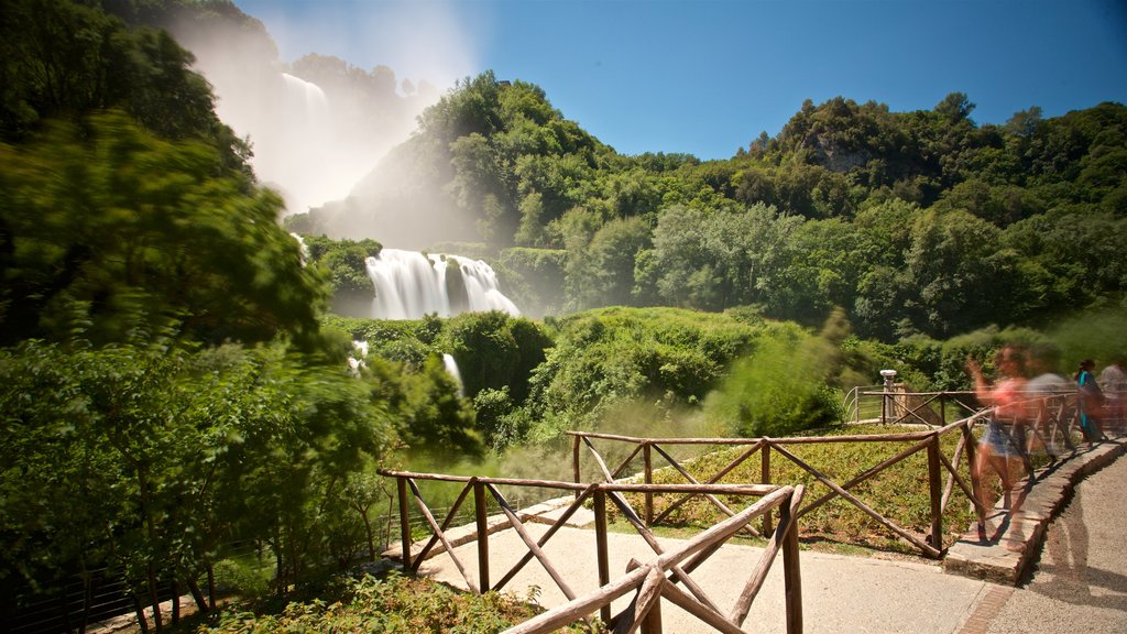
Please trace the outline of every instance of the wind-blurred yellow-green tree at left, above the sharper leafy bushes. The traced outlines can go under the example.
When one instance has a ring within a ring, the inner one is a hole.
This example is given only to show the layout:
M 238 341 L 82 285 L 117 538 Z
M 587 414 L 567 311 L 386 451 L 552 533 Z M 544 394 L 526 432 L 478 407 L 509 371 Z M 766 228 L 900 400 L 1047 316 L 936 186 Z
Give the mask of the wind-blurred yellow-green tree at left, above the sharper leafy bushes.
M 216 178 L 218 165 L 117 112 L 0 146 L 0 343 L 316 335 L 326 287 L 277 226 L 281 200 Z

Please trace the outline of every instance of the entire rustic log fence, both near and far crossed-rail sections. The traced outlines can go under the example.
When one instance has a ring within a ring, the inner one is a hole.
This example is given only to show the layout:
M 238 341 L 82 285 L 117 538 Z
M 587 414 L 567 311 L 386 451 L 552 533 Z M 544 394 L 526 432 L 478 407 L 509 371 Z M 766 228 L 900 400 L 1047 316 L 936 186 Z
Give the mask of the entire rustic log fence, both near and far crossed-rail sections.
M 935 399 L 925 400 L 919 406 L 932 407 L 932 403 L 947 402 L 944 397 L 935 395 Z M 961 405 L 964 407 L 966 405 Z M 1015 447 L 1020 448 L 1019 454 L 1024 460 L 1029 473 L 1028 483 L 1031 484 L 1036 474 L 1032 463 L 1024 448 L 1030 439 L 1039 441 L 1040 447 L 1059 448 L 1063 446 L 1073 450 L 1071 434 L 1075 419 L 1076 402 L 1074 394 L 1062 394 L 1051 397 L 1031 398 L 1027 403 L 1029 416 L 1024 424 L 1005 428 L 1005 433 L 1014 439 Z M 538 479 L 511 479 L 489 477 L 467 477 L 441 474 L 419 474 L 410 472 L 381 470 L 381 475 L 396 478 L 397 494 L 399 500 L 399 525 L 401 557 L 405 570 L 417 573 L 420 563 L 426 560 L 438 544 L 442 544 L 445 552 L 452 558 L 455 567 L 461 573 L 467 587 L 473 592 L 486 590 L 500 590 L 505 588 L 516 574 L 533 558 L 535 558 L 544 571 L 552 579 L 552 582 L 560 589 L 568 602 L 564 606 L 543 613 L 521 625 L 506 632 L 512 634 L 539 634 L 551 632 L 579 619 L 589 622 L 591 616 L 597 610 L 602 620 L 613 628 L 613 632 L 633 632 L 640 628 L 645 634 L 660 632 L 660 599 L 680 606 L 702 623 L 713 627 L 718 632 L 737 633 L 742 632 L 740 626 L 745 620 L 752 602 L 758 593 L 766 574 L 781 551 L 783 554 L 783 580 L 786 592 L 786 619 L 789 633 L 799 633 L 802 629 L 801 608 L 801 576 L 799 573 L 799 520 L 806 513 L 814 511 L 823 504 L 841 497 L 850 504 L 857 507 L 872 520 L 882 526 L 896 537 L 907 541 L 921 554 L 929 557 L 941 557 L 943 554 L 943 512 L 950 504 L 956 491 L 961 492 L 965 499 L 974 507 L 978 521 L 985 522 L 987 509 L 982 505 L 980 481 L 974 469 L 970 469 L 969 477 L 960 474 L 962 460 L 973 461 L 977 447 L 976 426 L 986 420 L 990 412 L 987 410 L 974 413 L 970 416 L 958 421 L 946 423 L 934 428 L 925 425 L 920 431 L 900 433 L 877 433 L 877 434 L 848 434 L 833 437 L 800 437 L 800 438 L 754 438 L 754 439 L 729 439 L 729 438 L 666 438 L 649 439 L 627 435 L 568 432 L 573 438 L 573 475 L 574 482 L 554 482 Z M 922 417 L 919 411 L 907 410 L 905 415 L 909 419 Z M 941 442 L 947 435 L 957 434 L 955 449 L 951 456 L 943 452 Z M 1059 443 L 1058 443 L 1059 440 Z M 593 441 L 605 441 L 613 443 L 627 443 L 632 449 L 613 469 L 610 468 Z M 907 443 L 907 448 L 899 450 L 896 455 L 882 459 L 875 465 L 861 467 L 861 470 L 845 479 L 836 482 L 826 475 L 823 469 L 808 464 L 792 451 L 797 444 L 818 443 Z M 742 448 L 739 455 L 719 468 L 707 478 L 699 479 L 693 476 L 671 451 L 677 446 L 712 446 Z M 602 482 L 586 483 L 582 477 L 580 456 L 583 447 L 589 450 Z M 891 519 L 882 514 L 878 509 L 867 504 L 859 495 L 851 492 L 858 485 L 897 465 L 908 457 L 919 452 L 926 456 L 926 473 L 920 478 L 925 483 L 930 500 L 930 527 L 924 535 L 919 535 L 912 530 L 898 526 Z M 760 481 L 757 483 L 728 483 L 720 481 L 731 474 L 743 463 L 756 454 L 761 455 Z M 1049 449 L 1049 457 L 1057 459 L 1059 451 Z M 622 479 L 624 474 L 638 457 L 642 460 L 642 470 L 636 477 Z M 772 460 L 779 456 L 790 464 L 799 467 L 815 481 L 825 485 L 829 491 L 814 500 L 805 499 L 802 485 L 773 484 Z M 665 463 L 666 469 L 672 469 L 684 478 L 685 483 L 657 484 L 654 482 L 655 460 Z M 946 475 L 946 483 L 943 481 Z M 428 508 L 417 484 L 418 481 L 435 481 L 461 484 L 462 488 L 454 505 L 441 521 L 434 517 Z M 570 492 L 574 501 L 564 509 L 557 520 L 539 538 L 533 539 L 527 528 L 523 523 L 518 512 L 514 510 L 508 500 L 500 493 L 498 486 L 540 487 Z M 473 541 L 477 545 L 477 576 L 472 575 L 468 566 L 459 560 L 454 552 L 455 544 L 447 537 L 451 525 L 458 516 L 459 509 L 470 499 L 473 500 Z M 642 513 L 638 513 L 630 505 L 625 493 L 640 494 L 644 500 Z M 656 513 L 654 507 L 655 495 L 672 495 L 675 500 L 665 505 L 660 512 Z M 729 507 L 731 496 L 756 496 L 758 501 L 747 505 L 743 510 L 734 510 Z M 720 497 L 726 496 L 728 503 Z M 650 527 L 667 519 L 677 508 L 687 501 L 700 497 L 719 509 L 728 519 L 716 523 L 704 530 L 695 538 L 687 541 L 681 549 L 666 553 L 658 545 Z M 428 540 L 418 548 L 411 536 L 410 500 L 415 503 L 426 519 L 429 528 Z M 490 501 L 491 500 L 491 501 Z M 607 501 L 610 501 L 637 530 L 638 535 L 653 548 L 656 558 L 648 563 L 632 561 L 627 573 L 612 580 L 610 574 L 607 554 Z M 496 581 L 494 581 L 489 562 L 489 534 L 499 528 L 496 521 L 491 522 L 488 509 L 494 504 L 504 513 L 504 527 L 512 527 L 527 547 L 521 560 Z M 595 516 L 595 551 L 597 561 L 598 589 L 587 595 L 578 596 L 571 589 L 568 580 L 564 579 L 557 566 L 552 564 L 544 552 L 544 545 L 565 526 L 574 513 L 580 508 L 589 505 Z M 773 511 L 778 509 L 778 521 Z M 758 520 L 756 528 L 753 523 Z M 725 543 L 739 532 L 749 532 L 755 536 L 767 538 L 765 551 L 753 567 L 749 578 L 740 593 L 736 605 L 726 615 L 704 593 L 701 587 L 690 576 L 701 563 L 715 554 Z M 612 615 L 611 604 L 615 599 L 635 592 L 635 598 L 629 606 L 616 615 Z

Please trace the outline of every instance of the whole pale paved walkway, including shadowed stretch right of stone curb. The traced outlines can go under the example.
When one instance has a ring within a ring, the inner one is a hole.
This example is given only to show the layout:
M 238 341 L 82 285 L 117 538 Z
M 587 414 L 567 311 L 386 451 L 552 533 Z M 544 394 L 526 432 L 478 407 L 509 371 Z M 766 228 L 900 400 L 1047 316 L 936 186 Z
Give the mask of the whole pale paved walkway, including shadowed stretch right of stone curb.
M 1067 468 L 1055 468 L 1030 490 L 1020 517 L 992 525 L 992 530 L 997 530 L 987 543 L 979 543 L 973 535 L 951 548 L 948 558 L 953 555 L 958 560 L 951 566 L 958 573 L 944 571 L 938 563 L 804 551 L 804 631 L 811 634 L 1127 632 L 1127 549 L 1122 547 L 1127 529 L 1124 491 L 1127 460 L 1116 459 L 1122 452 L 1120 441 L 1109 442 L 1080 452 Z M 1045 516 L 1046 512 L 1049 514 Z M 532 525 L 530 529 L 533 535 L 544 530 Z M 654 552 L 635 535 L 611 534 L 609 540 L 612 578 L 625 571 L 631 557 L 641 562 L 654 557 Z M 676 544 L 663 540 L 667 549 L 676 548 Z M 512 530 L 492 535 L 489 548 L 490 570 L 502 572 L 526 552 Z M 561 576 L 573 584 L 575 593 L 582 596 L 597 587 L 593 531 L 561 529 L 544 551 Z M 761 552 L 749 546 L 725 546 L 692 576 L 726 611 L 743 590 Z M 455 553 L 476 579 L 476 546 L 460 546 Z M 461 574 L 446 555 L 426 562 L 424 572 L 464 588 Z M 1013 583 L 997 582 L 1008 575 L 1018 576 Z M 566 600 L 535 561 L 508 588 L 522 598 L 535 597 L 545 607 Z M 622 609 L 628 600 L 629 597 L 615 602 L 614 611 Z M 662 609 L 665 632 L 712 632 L 668 602 L 663 602 Z M 780 556 L 744 627 L 749 632 L 786 632 L 783 616 Z

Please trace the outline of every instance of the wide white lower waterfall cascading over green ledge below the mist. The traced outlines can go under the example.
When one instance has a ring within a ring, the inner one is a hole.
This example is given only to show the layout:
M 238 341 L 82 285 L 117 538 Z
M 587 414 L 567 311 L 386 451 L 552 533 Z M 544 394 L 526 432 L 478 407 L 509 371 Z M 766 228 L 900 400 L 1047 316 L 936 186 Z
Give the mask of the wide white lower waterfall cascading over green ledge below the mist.
M 450 266 L 454 265 L 454 273 Z M 367 258 L 376 319 L 420 319 L 426 315 L 451 317 L 462 312 L 503 310 L 520 315 L 500 289 L 497 274 L 485 262 L 458 255 L 424 255 L 383 249 Z

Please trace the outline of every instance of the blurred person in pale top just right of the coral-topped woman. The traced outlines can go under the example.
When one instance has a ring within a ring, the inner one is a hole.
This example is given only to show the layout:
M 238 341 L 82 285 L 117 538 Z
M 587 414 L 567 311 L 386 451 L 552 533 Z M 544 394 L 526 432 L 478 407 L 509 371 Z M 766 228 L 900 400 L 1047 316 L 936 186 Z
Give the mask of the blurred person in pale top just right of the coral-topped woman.
M 1061 351 L 1056 345 L 1044 342 L 1029 346 L 1026 366 L 1033 378 L 1026 385 L 1032 398 L 1029 412 L 1032 433 L 1029 434 L 1028 450 L 1030 454 L 1045 451 L 1054 459 L 1058 455 L 1058 430 L 1064 444 L 1068 449 L 1075 449 L 1072 439 L 1068 438 L 1070 425 L 1062 425 L 1065 416 L 1071 416 L 1066 398 L 1075 393 L 1075 388 L 1072 381 L 1054 371 L 1059 362 Z

